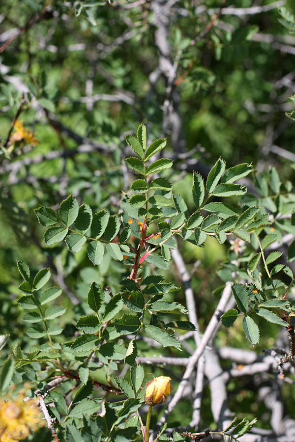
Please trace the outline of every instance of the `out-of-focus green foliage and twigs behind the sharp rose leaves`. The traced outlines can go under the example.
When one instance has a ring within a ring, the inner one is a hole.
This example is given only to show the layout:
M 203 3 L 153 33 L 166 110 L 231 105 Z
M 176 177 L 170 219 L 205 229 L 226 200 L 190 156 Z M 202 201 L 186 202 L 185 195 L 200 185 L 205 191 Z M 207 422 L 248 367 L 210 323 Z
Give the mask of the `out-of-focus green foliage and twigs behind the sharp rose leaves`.
M 93 280 L 116 293 L 128 275 L 111 258 L 93 267 L 85 249 L 73 256 L 65 244 L 62 250 L 44 246 L 33 209 L 41 204 L 56 209 L 72 193 L 94 211 L 108 207 L 118 213 L 128 187 L 124 136 L 141 121 L 150 139 L 168 137 L 167 152 L 175 159 L 169 179 L 191 211 L 192 170 L 206 175 L 219 156 L 227 167 L 253 162 L 260 172 L 275 166 L 284 179 L 294 179 L 295 126 L 285 112 L 295 106 L 289 99 L 295 93 L 295 36 L 272 4 L 295 13 L 292 0 L 1 3 L 0 327 L 12 342 L 31 341 L 16 303 L 21 282 L 16 259 L 35 271 L 51 267 L 64 306 L 85 301 Z M 227 7 L 260 12 L 228 14 Z M 170 89 L 165 60 L 177 69 Z M 38 143 L 11 139 L 16 115 Z M 209 241 L 204 249 L 188 243 L 182 249 L 202 328 L 217 304 L 215 290 L 223 282 L 216 269 L 228 259 L 229 247 Z M 181 284 L 174 264 L 162 272 Z M 184 302 L 183 292 L 177 296 Z M 64 317 L 69 335 L 77 314 L 79 305 Z M 262 321 L 260 327 L 268 326 Z M 223 328 L 220 346 L 250 348 L 240 330 L 241 324 Z M 272 346 L 278 330 L 272 325 L 262 333 L 257 350 Z M 162 352 L 140 345 L 146 356 Z M 242 415 L 255 392 L 241 384 L 232 381 L 229 388 L 231 408 Z M 294 403 L 289 405 L 294 411 Z M 202 413 L 210 420 L 209 402 Z

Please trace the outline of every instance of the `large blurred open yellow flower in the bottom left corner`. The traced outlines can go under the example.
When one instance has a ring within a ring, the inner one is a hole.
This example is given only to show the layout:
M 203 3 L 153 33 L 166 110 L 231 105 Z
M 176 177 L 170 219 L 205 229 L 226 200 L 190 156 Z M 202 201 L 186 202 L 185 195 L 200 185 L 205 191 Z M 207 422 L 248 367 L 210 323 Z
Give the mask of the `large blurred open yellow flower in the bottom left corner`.
M 0 401 L 0 442 L 16 442 L 27 439 L 30 432 L 43 427 L 41 411 L 36 399 L 24 402 L 21 392 L 15 399 Z

